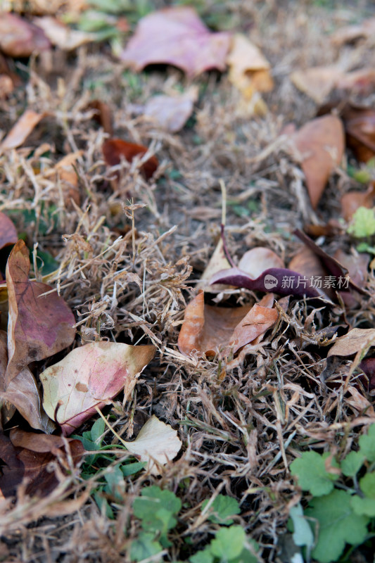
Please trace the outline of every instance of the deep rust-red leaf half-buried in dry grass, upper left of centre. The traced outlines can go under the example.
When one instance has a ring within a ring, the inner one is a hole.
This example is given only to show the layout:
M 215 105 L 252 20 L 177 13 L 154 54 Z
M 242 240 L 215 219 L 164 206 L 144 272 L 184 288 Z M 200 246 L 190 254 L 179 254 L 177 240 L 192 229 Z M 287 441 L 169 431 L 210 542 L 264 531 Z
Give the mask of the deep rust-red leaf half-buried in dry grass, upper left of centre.
M 120 164 L 121 158 L 124 158 L 131 163 L 136 156 L 141 158 L 147 152 L 147 147 L 143 145 L 136 145 L 122 141 L 122 139 L 108 139 L 103 143 L 103 156 L 108 166 L 115 166 Z M 144 173 L 146 179 L 153 176 L 155 170 L 159 165 L 158 159 L 151 156 L 140 167 L 141 172 Z

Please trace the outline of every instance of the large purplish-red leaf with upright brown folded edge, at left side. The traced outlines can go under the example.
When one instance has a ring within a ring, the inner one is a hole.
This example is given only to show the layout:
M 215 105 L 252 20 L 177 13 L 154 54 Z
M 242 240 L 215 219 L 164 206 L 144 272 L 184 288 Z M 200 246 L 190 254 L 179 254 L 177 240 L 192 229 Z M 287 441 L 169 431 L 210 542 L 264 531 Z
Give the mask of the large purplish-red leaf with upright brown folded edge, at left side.
M 51 287 L 28 279 L 29 251 L 20 240 L 13 247 L 6 265 L 8 287 L 8 367 L 6 386 L 30 362 L 60 352 L 75 339 L 75 317 Z

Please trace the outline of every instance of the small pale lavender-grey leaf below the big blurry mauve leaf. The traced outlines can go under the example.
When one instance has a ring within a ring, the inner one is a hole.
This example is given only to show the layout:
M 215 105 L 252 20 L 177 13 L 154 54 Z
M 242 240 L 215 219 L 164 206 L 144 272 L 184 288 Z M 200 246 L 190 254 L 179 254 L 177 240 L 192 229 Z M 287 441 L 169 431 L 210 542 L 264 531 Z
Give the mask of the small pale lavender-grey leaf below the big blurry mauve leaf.
M 193 113 L 194 103 L 198 99 L 198 89 L 192 87 L 179 96 L 153 96 L 144 108 L 144 115 L 170 133 L 176 133 L 184 127 Z

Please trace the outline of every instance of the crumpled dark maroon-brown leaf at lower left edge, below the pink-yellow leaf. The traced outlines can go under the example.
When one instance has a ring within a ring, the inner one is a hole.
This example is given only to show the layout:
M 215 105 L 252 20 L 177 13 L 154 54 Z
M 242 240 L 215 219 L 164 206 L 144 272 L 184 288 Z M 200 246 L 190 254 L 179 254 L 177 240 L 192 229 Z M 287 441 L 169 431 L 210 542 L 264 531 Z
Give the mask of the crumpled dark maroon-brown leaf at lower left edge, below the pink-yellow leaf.
M 51 462 L 58 463 L 60 470 L 68 474 L 68 456 L 77 465 L 84 451 L 80 440 L 69 439 L 64 443 L 58 436 L 18 429 L 11 431 L 10 438 L 0 434 L 0 458 L 6 463 L 0 476 L 1 492 L 5 497 L 13 496 L 17 486 L 27 479 L 26 494 L 44 497 L 59 483 L 55 473 L 51 472 Z

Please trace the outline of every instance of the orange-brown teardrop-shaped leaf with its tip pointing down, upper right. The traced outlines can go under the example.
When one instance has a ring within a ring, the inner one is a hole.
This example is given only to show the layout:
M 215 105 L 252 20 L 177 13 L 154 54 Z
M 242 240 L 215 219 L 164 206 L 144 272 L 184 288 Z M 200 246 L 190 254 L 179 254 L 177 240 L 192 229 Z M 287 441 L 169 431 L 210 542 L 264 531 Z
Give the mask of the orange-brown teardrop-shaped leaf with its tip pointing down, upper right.
M 324 115 L 307 122 L 292 139 L 302 158 L 312 208 L 316 209 L 331 173 L 343 158 L 343 124 L 335 115 Z

